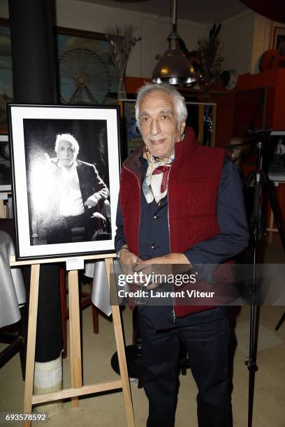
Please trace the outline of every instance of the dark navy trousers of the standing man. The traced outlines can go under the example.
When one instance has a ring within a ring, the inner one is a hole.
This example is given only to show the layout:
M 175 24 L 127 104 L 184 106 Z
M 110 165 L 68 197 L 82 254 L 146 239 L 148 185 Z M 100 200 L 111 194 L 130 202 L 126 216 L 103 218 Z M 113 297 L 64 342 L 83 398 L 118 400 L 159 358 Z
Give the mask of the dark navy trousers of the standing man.
M 180 339 L 187 345 L 198 387 L 198 426 L 231 427 L 227 318 L 155 331 L 152 323 L 140 315 L 140 328 L 145 366 L 143 387 L 149 399 L 147 427 L 175 425 Z

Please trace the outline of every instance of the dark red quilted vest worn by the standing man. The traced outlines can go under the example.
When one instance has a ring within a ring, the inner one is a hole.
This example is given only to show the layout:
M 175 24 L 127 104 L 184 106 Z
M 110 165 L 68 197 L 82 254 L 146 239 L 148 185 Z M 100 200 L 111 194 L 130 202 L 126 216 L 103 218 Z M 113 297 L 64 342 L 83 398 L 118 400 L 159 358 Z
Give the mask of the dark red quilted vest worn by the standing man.
M 217 195 L 224 165 L 224 149 L 197 145 L 191 128 L 175 143 L 175 160 L 168 177 L 168 221 L 170 252 L 183 253 L 201 241 L 219 234 Z M 131 252 L 138 255 L 140 228 L 141 147 L 122 167 L 119 202 L 124 234 Z M 182 317 L 210 306 L 175 306 Z

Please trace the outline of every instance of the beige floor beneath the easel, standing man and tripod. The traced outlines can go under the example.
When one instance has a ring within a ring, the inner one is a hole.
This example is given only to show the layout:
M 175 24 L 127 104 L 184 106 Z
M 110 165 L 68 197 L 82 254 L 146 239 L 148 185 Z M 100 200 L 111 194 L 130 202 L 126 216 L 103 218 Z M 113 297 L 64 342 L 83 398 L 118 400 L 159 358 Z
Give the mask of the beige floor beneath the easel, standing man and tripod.
M 277 238 L 266 249 L 267 262 L 284 262 L 284 253 Z M 284 278 L 285 280 L 285 278 Z M 236 317 L 233 331 L 237 347 L 233 361 L 233 419 L 235 427 L 247 426 L 247 394 L 249 373 L 244 360 L 249 355 L 249 307 L 242 307 Z M 285 323 L 275 331 L 285 308 L 279 306 L 261 307 L 258 334 L 258 354 L 254 395 L 254 427 L 285 427 Z M 84 384 L 117 379 L 110 367 L 110 358 L 115 352 L 115 337 L 112 323 L 100 316 L 98 335 L 92 332 L 92 312 L 83 313 L 83 366 Z M 131 344 L 131 313 L 124 310 L 126 343 Z M 69 352 L 68 352 L 69 354 Z M 70 387 L 69 359 L 64 360 L 64 387 Z M 191 372 L 180 376 L 180 394 L 177 406 L 176 427 L 196 427 L 196 384 Z M 0 412 L 21 412 L 24 383 L 18 355 L 0 370 Z M 145 426 L 147 399 L 136 383 L 131 384 L 133 409 L 136 426 Z M 40 423 L 34 423 L 34 425 Z M 10 426 L 19 426 L 11 423 Z M 48 426 L 126 426 L 122 392 L 112 392 L 80 398 L 78 409 L 72 410 L 70 401 L 64 402 L 63 409 L 48 420 Z M 209 426 L 211 427 L 211 426 Z

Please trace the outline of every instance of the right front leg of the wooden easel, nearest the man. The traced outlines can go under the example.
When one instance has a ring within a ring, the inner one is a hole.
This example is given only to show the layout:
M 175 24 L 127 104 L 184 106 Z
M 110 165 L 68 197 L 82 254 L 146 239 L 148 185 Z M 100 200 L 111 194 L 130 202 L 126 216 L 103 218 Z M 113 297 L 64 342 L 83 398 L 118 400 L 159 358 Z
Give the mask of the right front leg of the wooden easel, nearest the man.
M 107 277 L 110 282 L 110 272 L 113 272 L 113 262 L 110 258 L 105 258 L 105 264 L 107 269 Z M 121 316 L 119 313 L 119 306 L 112 306 L 112 319 L 114 323 L 115 339 L 117 344 L 117 353 L 119 360 L 119 372 L 122 379 L 122 389 L 124 394 L 124 404 L 126 410 L 126 422 L 128 427 L 135 426 L 135 419 L 133 417 L 133 403 L 131 400 L 131 388 L 129 382 L 128 370 L 126 368 L 126 354 L 124 350 L 124 338 L 122 333 Z

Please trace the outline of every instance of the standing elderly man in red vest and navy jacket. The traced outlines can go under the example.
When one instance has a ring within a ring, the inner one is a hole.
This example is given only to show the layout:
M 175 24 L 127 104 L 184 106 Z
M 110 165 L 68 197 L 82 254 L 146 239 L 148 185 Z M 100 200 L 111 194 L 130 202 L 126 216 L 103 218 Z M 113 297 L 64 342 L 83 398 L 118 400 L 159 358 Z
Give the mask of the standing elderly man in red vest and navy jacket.
M 247 220 L 240 179 L 224 149 L 196 144 L 193 130 L 185 128 L 184 98 L 168 85 L 140 88 L 136 118 L 145 144 L 122 167 L 115 245 L 123 271 L 217 265 L 240 253 Z M 212 280 L 209 268 L 199 275 Z M 226 308 L 173 301 L 138 310 L 147 426 L 175 425 L 182 340 L 198 387 L 199 427 L 230 427 Z

